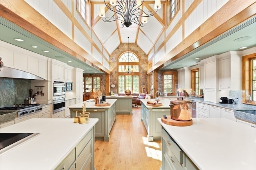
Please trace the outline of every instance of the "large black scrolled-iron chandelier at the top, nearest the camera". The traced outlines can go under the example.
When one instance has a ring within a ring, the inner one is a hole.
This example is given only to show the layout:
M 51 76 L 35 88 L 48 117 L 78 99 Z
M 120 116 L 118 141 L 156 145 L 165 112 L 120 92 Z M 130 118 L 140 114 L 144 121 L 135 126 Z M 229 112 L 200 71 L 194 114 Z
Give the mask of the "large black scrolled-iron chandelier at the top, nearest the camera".
M 117 1 L 117 3 L 116 3 Z M 110 0 L 109 3 L 104 3 L 106 7 L 113 11 L 114 14 L 111 17 L 105 17 L 105 6 L 102 5 L 100 7 L 100 14 L 99 16 L 102 17 L 102 20 L 105 22 L 111 21 L 120 21 L 120 23 L 129 27 L 132 23 L 136 23 L 139 26 L 144 26 L 145 23 L 148 22 L 147 17 L 153 16 L 156 14 L 158 9 L 161 8 L 161 0 L 155 0 L 154 9 L 156 10 L 155 13 L 149 11 L 148 13 L 142 10 L 142 4 L 144 0 Z M 103 19 L 104 18 L 104 19 Z M 141 18 L 141 19 L 140 19 Z

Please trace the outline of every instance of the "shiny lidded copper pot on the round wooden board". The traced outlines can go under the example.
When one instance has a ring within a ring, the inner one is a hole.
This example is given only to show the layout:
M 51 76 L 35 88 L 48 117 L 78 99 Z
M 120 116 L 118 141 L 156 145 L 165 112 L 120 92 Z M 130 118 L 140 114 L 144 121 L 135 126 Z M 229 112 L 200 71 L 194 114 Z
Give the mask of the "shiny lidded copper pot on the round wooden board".
M 179 121 L 189 121 L 192 117 L 192 102 L 190 100 L 171 101 L 171 118 Z

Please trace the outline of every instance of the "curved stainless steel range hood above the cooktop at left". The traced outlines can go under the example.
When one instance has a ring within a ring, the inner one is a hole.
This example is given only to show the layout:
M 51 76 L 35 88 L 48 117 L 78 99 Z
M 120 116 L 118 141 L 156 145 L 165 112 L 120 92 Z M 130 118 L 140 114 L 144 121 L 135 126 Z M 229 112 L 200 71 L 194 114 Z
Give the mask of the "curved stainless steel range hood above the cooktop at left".
M 34 74 L 17 70 L 15 68 L 10 67 L 2 67 L 0 68 L 2 71 L 0 71 L 0 77 L 4 78 L 22 78 L 22 79 L 30 79 L 30 80 L 44 80 L 41 77 L 38 77 Z

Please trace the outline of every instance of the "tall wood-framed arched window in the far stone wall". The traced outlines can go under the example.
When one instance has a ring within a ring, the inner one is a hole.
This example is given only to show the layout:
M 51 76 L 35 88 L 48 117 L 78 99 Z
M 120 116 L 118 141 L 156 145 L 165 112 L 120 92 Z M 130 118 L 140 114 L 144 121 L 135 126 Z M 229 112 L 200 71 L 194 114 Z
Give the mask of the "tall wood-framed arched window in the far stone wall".
M 124 93 L 129 89 L 132 93 L 140 91 L 140 61 L 132 52 L 120 55 L 117 63 L 118 68 L 118 93 Z

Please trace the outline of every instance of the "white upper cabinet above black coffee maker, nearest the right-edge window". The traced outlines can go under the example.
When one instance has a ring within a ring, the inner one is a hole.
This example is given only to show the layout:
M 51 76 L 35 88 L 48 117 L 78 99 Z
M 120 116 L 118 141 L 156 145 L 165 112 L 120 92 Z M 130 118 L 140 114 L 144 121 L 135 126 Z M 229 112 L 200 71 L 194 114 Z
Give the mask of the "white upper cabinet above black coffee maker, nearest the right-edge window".
M 220 90 L 241 90 L 242 52 L 228 51 L 218 57 L 220 57 Z

